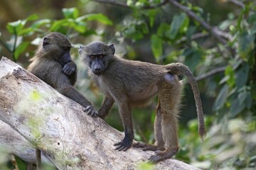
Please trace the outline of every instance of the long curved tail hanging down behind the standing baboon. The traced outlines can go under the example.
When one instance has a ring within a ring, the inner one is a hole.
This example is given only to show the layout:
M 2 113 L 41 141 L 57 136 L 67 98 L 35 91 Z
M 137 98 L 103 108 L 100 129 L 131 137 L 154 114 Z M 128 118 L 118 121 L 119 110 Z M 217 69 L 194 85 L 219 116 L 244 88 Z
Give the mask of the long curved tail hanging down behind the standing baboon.
M 204 118 L 203 118 L 203 108 L 202 108 L 202 101 L 200 97 L 200 92 L 198 89 L 198 84 L 196 83 L 196 79 L 193 76 L 193 73 L 188 69 L 188 67 L 182 63 L 172 63 L 166 65 L 166 69 L 169 70 L 172 74 L 180 75 L 185 74 L 186 77 L 188 77 L 188 81 L 191 84 L 194 98 L 196 101 L 196 111 L 198 114 L 198 134 L 203 140 L 204 137 L 206 137 L 206 128 L 204 124 Z

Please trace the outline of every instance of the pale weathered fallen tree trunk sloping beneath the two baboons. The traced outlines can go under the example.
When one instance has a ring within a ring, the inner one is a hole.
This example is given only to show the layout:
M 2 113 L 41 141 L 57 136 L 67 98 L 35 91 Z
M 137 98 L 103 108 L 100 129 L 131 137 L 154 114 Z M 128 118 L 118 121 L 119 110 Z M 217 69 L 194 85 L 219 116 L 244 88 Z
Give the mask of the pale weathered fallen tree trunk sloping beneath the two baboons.
M 138 169 L 154 154 L 134 147 L 114 150 L 114 143 L 124 137 L 121 132 L 91 118 L 78 103 L 5 57 L 0 61 L 0 119 L 18 132 L 15 136 L 24 137 L 21 145 L 28 140 L 58 169 Z M 197 169 L 175 159 L 155 168 Z

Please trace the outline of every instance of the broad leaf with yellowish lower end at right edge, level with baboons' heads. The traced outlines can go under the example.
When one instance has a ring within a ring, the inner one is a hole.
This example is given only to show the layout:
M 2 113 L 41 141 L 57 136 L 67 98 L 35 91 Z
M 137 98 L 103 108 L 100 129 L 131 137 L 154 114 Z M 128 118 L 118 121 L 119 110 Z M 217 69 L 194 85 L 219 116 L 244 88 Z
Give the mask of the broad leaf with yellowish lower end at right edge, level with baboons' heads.
M 248 54 L 254 49 L 255 44 L 255 35 L 250 35 L 247 33 L 247 31 L 243 32 L 242 35 L 240 35 L 239 38 L 239 47 L 238 47 L 238 53 L 242 60 L 247 61 Z

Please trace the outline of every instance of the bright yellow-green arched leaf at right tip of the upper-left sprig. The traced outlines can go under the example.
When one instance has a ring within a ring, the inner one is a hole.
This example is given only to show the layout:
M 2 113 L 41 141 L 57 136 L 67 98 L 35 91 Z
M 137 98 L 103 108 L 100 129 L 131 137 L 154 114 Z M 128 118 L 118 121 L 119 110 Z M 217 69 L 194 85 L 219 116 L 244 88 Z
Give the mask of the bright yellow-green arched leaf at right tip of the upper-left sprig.
M 75 21 L 80 22 L 83 20 L 88 20 L 88 21 L 99 21 L 101 23 L 104 23 L 106 25 L 111 26 L 112 21 L 110 21 L 107 16 L 103 15 L 102 13 L 92 13 L 92 14 L 87 14 L 85 16 L 80 16 L 79 18 L 76 18 Z

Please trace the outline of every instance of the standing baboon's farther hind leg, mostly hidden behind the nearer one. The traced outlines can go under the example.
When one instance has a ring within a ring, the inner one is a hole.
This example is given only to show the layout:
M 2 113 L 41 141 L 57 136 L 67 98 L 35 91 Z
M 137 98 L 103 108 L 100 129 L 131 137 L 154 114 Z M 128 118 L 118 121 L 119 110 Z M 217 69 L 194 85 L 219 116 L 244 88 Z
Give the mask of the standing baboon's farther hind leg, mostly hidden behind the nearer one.
M 154 145 L 149 145 L 144 142 L 137 142 L 134 143 L 134 147 L 141 147 L 143 148 L 144 151 L 146 150 L 151 150 L 151 151 L 156 151 L 156 150 L 164 150 L 164 140 L 163 140 L 163 135 L 161 132 L 161 103 L 160 103 L 160 98 L 158 99 L 158 104 L 156 106 L 156 118 L 154 120 L 154 137 L 156 142 Z

